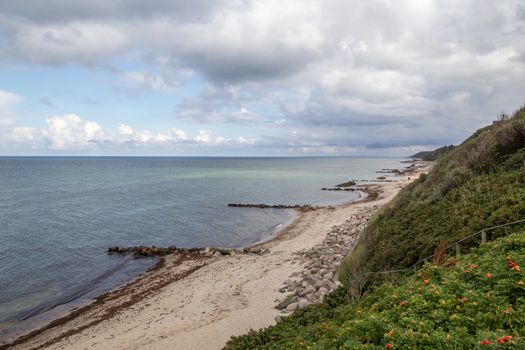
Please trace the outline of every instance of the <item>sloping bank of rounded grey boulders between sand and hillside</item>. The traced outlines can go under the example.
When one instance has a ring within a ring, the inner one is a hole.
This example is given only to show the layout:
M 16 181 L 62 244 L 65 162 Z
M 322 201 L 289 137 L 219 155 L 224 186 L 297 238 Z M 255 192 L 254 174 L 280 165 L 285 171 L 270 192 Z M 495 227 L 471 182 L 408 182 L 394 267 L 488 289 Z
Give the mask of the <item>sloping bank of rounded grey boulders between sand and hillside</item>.
M 341 285 L 337 279 L 337 269 L 352 251 L 359 232 L 378 209 L 377 205 L 360 209 L 342 225 L 332 227 L 319 245 L 296 253 L 292 264 L 302 264 L 303 271 L 292 274 L 284 281 L 279 292 L 290 294 L 276 308 L 283 313 L 290 313 L 319 304 L 326 294 Z

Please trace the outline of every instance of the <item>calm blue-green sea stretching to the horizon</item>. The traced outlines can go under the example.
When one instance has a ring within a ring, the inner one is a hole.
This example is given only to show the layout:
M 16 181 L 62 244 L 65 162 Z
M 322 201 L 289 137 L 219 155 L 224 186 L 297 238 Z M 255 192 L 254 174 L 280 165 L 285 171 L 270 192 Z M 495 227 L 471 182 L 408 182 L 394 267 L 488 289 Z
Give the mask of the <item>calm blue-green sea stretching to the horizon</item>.
M 357 194 L 320 188 L 373 179 L 400 160 L 0 157 L 0 340 L 155 261 L 108 256 L 108 246 L 246 246 L 297 214 L 228 203 L 348 202 Z

